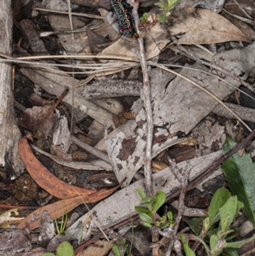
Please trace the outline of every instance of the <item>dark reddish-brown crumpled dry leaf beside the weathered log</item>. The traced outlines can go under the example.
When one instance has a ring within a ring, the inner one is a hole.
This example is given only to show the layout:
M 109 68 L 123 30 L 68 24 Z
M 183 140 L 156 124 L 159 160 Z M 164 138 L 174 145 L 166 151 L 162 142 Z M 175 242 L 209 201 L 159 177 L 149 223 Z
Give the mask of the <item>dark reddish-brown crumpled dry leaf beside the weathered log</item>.
M 46 139 L 54 122 L 54 104 L 34 106 L 20 113 L 19 125 L 34 134 L 37 139 Z

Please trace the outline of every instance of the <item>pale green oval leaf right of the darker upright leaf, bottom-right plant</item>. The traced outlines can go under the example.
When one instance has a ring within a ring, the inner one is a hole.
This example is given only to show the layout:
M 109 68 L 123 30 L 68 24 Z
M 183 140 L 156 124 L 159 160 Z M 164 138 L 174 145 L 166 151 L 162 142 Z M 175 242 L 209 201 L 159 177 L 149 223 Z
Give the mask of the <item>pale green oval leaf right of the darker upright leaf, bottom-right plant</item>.
M 230 196 L 224 206 L 219 209 L 221 230 L 227 231 L 235 219 L 237 196 Z

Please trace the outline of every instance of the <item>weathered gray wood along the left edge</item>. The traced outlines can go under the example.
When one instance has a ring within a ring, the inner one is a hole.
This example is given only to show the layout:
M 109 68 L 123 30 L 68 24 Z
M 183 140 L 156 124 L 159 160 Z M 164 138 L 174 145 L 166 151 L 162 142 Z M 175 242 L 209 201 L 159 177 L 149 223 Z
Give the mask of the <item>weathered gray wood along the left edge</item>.
M 11 1 L 0 0 L 0 54 L 11 55 Z M 1 59 L 0 59 L 1 60 Z M 12 66 L 0 61 L 0 166 L 19 174 L 24 168 L 18 153 L 20 130 L 14 119 L 14 95 L 11 88 Z

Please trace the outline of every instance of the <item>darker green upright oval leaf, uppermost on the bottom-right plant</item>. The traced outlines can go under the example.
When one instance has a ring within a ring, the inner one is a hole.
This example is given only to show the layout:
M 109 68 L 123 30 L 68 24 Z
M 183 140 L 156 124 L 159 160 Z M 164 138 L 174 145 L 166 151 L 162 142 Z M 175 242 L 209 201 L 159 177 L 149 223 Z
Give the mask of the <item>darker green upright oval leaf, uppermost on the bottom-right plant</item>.
M 212 219 L 218 213 L 219 208 L 222 208 L 224 206 L 224 203 L 227 202 L 230 196 L 230 192 L 224 188 L 218 189 L 218 191 L 214 193 L 207 213 L 210 222 L 212 222 Z

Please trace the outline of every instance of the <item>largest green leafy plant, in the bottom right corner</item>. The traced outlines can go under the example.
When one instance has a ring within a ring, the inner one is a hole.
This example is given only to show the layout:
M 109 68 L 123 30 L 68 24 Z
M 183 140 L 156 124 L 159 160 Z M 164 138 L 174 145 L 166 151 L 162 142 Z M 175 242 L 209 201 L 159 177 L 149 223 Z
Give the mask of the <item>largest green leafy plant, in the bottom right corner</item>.
M 207 255 L 218 256 L 237 255 L 236 248 L 239 248 L 255 239 L 251 238 L 233 242 L 232 238 L 237 235 L 237 230 L 232 226 L 237 213 L 243 208 L 243 203 L 237 200 L 237 196 L 231 196 L 227 189 L 219 189 L 212 196 L 207 218 L 203 219 L 200 236 L 194 236 L 195 240 L 201 242 L 206 249 Z M 187 238 L 180 236 L 186 256 L 195 256 L 190 249 Z

